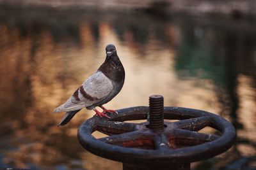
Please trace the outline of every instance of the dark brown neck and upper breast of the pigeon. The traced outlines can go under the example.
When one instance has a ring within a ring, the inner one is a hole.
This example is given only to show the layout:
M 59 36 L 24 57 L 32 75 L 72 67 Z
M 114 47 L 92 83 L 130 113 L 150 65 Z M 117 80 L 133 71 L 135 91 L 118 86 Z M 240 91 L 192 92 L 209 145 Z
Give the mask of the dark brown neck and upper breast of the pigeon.
M 101 71 L 105 76 L 107 76 L 112 81 L 122 82 L 124 81 L 125 71 L 124 67 L 117 55 L 111 56 L 99 67 L 98 71 Z

